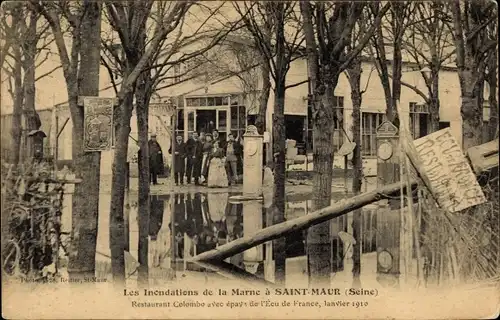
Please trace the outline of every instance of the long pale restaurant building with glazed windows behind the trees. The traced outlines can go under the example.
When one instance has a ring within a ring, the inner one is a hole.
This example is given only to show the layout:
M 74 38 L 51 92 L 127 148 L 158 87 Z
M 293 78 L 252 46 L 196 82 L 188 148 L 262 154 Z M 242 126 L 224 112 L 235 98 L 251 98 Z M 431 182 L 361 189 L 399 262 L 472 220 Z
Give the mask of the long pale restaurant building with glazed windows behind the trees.
M 174 68 L 175 70 L 175 68 Z M 374 66 L 371 63 L 363 63 L 361 74 L 361 88 L 365 91 L 361 106 L 361 136 L 362 154 L 366 175 L 376 172 L 375 129 L 383 121 L 386 110 L 384 91 Z M 177 69 L 179 72 L 179 69 Z M 106 80 L 105 72 L 102 73 L 101 87 L 103 96 L 110 96 L 111 81 Z M 297 142 L 299 154 L 312 151 L 312 125 L 311 113 L 308 108 L 307 97 L 309 94 L 307 80 L 307 61 L 297 59 L 292 62 L 287 74 L 287 85 L 302 83 L 286 91 L 285 97 L 285 122 L 287 139 Z M 411 66 L 403 67 L 402 80 L 423 92 L 427 91 L 420 71 Z M 440 73 L 440 121 L 442 127 L 450 127 L 457 140 L 461 141 L 462 120 L 460 115 L 460 85 L 458 75 L 453 68 L 445 68 Z M 256 80 L 257 83 L 259 79 Z M 108 83 L 109 82 L 109 83 Z M 107 88 L 107 89 L 106 89 Z M 255 88 L 253 88 L 255 89 Z M 485 88 L 487 91 L 487 87 Z M 166 89 L 158 90 L 151 102 L 149 115 L 149 131 L 156 133 L 162 145 L 166 161 L 169 162 L 168 148 L 170 147 L 171 134 L 175 129 L 184 139 L 194 131 L 207 131 L 209 127 L 219 130 L 225 138 L 229 132 L 236 136 L 242 136 L 247 125 L 255 122 L 258 113 L 258 90 L 247 90 L 237 76 L 222 77 L 211 82 L 194 79 L 170 85 Z M 338 150 L 346 139 L 352 139 L 352 102 L 350 97 L 350 85 L 347 77 L 342 74 L 334 92 L 336 96 L 336 107 L 343 114 L 342 123 L 335 124 L 334 149 Z M 485 92 L 485 94 L 488 94 Z M 170 100 L 176 107 L 172 112 L 164 107 L 166 101 Z M 272 115 L 274 97 L 268 100 L 266 113 L 267 132 L 272 136 Z M 410 128 L 414 137 L 418 138 L 427 134 L 429 127 L 429 111 L 422 97 L 412 89 L 405 86 L 401 90 L 400 103 L 408 106 L 410 110 Z M 47 103 L 46 105 L 49 105 Z M 487 106 L 486 106 L 487 107 Z M 487 108 L 485 109 L 485 121 L 488 120 Z M 43 129 L 48 132 L 46 139 L 46 152 L 55 154 L 55 136 L 58 135 L 57 158 L 59 160 L 71 160 L 72 124 L 67 105 L 60 104 L 50 111 L 50 124 L 48 116 L 42 117 Z M 175 113 L 175 117 L 173 117 Z M 2 139 L 10 136 L 7 117 L 2 118 Z M 56 121 L 57 118 L 57 121 Z M 134 154 L 137 154 L 137 124 L 135 115 L 131 119 L 131 134 L 129 140 L 129 159 L 134 162 Z M 172 128 L 172 121 L 175 121 Z M 57 123 L 57 130 L 56 130 Z M 48 128 L 48 130 L 47 130 Z M 342 130 L 342 128 L 344 128 Z M 56 134 L 58 131 L 58 134 Z M 101 170 L 103 175 L 111 175 L 114 150 L 102 152 Z M 335 167 L 343 167 L 343 159 L 335 158 Z M 304 168 L 303 168 L 304 169 Z M 312 169 L 309 165 L 308 169 Z

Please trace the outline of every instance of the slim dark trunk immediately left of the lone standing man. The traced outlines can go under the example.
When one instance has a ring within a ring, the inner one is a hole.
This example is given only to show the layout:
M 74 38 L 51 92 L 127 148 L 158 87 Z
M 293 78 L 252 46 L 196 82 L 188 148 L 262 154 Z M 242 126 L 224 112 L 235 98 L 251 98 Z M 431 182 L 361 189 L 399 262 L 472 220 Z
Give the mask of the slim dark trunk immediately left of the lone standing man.
M 139 195 L 137 216 L 139 218 L 139 285 L 147 285 L 148 278 L 148 247 L 149 247 L 149 148 L 148 148 L 148 117 L 149 117 L 149 86 L 147 73 L 143 73 L 138 81 L 136 92 L 136 116 L 139 137 Z

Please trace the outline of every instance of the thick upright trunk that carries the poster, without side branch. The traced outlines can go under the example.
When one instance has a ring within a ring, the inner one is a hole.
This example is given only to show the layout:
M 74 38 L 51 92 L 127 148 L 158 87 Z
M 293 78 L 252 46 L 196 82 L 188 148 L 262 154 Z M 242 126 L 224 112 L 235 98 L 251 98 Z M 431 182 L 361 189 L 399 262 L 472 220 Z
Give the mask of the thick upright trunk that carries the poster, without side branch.
M 99 95 L 101 5 L 85 1 L 83 6 L 86 14 L 81 22 L 81 58 L 77 81 L 79 86 L 77 87 L 76 83 L 67 84 L 70 109 L 75 111 L 71 117 L 73 162 L 76 176 L 82 179 L 81 183 L 75 185 L 73 195 L 72 241 L 68 263 L 70 278 L 95 276 L 99 216 L 101 153 L 84 151 L 84 112 L 77 104 L 78 95 Z

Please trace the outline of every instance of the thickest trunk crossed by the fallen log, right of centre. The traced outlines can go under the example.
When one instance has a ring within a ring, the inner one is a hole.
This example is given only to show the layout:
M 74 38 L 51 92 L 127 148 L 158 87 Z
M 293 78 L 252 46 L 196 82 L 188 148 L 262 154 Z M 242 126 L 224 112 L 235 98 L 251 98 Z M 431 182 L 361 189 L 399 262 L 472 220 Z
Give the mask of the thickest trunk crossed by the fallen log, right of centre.
M 325 76 L 325 80 L 328 79 Z M 333 178 L 334 89 L 332 82 L 325 81 L 325 90 L 315 94 L 316 114 L 313 115 L 313 202 L 312 210 L 330 206 Z M 309 284 L 328 286 L 332 272 L 330 221 L 315 225 L 307 231 L 307 256 Z

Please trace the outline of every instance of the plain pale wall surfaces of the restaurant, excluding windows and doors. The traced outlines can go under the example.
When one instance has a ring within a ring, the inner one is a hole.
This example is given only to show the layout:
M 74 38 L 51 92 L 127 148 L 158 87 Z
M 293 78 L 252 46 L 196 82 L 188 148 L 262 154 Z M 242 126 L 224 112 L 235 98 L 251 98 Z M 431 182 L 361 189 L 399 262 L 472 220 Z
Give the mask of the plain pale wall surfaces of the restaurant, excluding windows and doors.
M 306 60 L 296 60 L 291 64 L 288 76 L 287 85 L 299 83 L 307 79 L 307 63 Z M 424 93 L 427 91 L 420 73 L 417 72 L 403 72 L 403 81 L 414 85 L 421 89 Z M 104 81 L 105 82 L 105 81 Z M 361 88 L 366 92 L 363 94 L 362 111 L 365 112 L 379 112 L 384 113 L 386 109 L 384 91 L 376 70 L 372 70 L 370 64 L 363 64 L 363 72 L 361 74 Z M 172 95 L 213 95 L 213 94 L 228 94 L 237 93 L 242 91 L 240 80 L 237 77 L 229 78 L 215 84 L 204 84 L 200 81 L 185 82 L 168 89 L 161 90 L 159 94 L 162 97 Z M 308 85 L 306 83 L 290 88 L 286 91 L 285 112 L 287 114 L 306 114 L 307 102 L 304 100 L 308 94 Z M 350 85 L 345 74 L 339 78 L 338 85 L 335 89 L 335 95 L 344 97 L 344 127 L 347 134 L 352 137 L 351 123 L 352 123 L 352 102 L 350 97 Z M 413 90 L 402 87 L 401 100 L 402 105 L 408 106 L 410 102 L 422 103 L 423 99 Z M 254 100 L 254 103 L 257 103 Z M 440 74 L 440 118 L 442 121 L 449 121 L 450 128 L 455 134 L 458 141 L 461 141 L 461 115 L 460 115 L 460 86 L 458 76 L 455 72 L 443 71 Z M 272 113 L 274 106 L 274 95 L 271 91 L 268 111 L 267 123 L 272 123 Z M 248 106 L 250 107 L 250 106 Z M 170 147 L 170 137 L 164 134 L 164 126 L 169 126 L 169 117 L 163 119 L 164 125 L 161 125 L 160 120 L 155 116 L 150 116 L 150 132 L 158 134 L 158 140 L 164 149 L 167 161 L 169 161 L 168 148 Z M 60 123 L 63 120 L 60 120 Z M 135 115 L 131 119 L 131 135 L 137 137 L 137 124 Z M 272 129 L 268 128 L 271 133 Z M 71 159 L 71 121 L 68 123 L 64 132 L 60 137 L 59 142 L 59 158 Z M 137 139 L 137 138 L 136 138 Z M 135 142 L 131 139 L 130 149 L 134 149 Z M 111 165 L 113 159 L 113 151 L 102 152 L 102 170 L 111 173 Z M 343 159 L 340 157 L 335 158 L 336 167 L 343 167 Z M 376 159 L 365 159 L 365 167 L 367 174 L 369 171 L 375 169 Z

